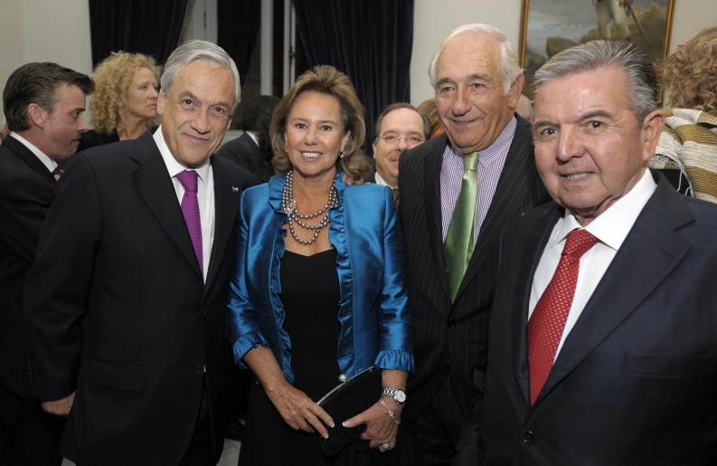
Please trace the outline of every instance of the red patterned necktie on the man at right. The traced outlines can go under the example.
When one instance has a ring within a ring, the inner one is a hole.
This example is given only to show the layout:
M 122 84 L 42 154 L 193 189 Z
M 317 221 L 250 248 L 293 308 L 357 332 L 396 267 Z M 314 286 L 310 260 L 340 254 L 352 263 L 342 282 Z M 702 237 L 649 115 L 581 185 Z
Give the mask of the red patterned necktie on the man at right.
M 555 352 L 558 350 L 575 295 L 580 257 L 596 243 L 598 238 L 585 230 L 568 233 L 558 268 L 528 321 L 531 404 L 535 403 L 542 385 L 545 385 L 551 373 Z

